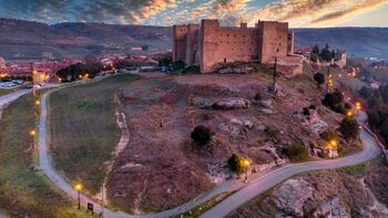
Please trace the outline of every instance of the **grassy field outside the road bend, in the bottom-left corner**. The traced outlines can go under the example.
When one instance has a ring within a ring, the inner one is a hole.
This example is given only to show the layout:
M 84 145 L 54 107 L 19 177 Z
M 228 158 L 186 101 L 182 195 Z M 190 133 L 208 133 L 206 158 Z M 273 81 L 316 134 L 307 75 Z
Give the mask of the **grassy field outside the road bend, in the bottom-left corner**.
M 11 217 L 84 217 L 37 169 L 31 149 L 38 108 L 32 95 L 13 102 L 0 122 L 0 208 Z

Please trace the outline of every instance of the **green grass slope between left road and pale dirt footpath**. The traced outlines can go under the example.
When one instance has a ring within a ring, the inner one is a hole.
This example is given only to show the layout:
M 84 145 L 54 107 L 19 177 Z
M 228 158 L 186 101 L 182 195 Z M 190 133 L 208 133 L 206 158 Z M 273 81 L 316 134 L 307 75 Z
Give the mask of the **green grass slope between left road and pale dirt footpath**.
M 115 121 L 114 93 L 139 76 L 114 75 L 103 81 L 57 91 L 50 95 L 51 150 L 57 169 L 81 180 L 96 194 L 105 177 L 121 132 Z

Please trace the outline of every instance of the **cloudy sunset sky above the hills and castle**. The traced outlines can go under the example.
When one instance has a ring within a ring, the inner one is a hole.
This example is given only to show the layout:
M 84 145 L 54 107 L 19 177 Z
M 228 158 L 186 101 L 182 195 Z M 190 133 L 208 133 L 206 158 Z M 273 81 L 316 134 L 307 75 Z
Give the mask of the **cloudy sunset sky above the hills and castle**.
M 172 25 L 219 19 L 287 21 L 293 28 L 388 27 L 388 0 L 0 0 L 0 17 L 59 22 Z

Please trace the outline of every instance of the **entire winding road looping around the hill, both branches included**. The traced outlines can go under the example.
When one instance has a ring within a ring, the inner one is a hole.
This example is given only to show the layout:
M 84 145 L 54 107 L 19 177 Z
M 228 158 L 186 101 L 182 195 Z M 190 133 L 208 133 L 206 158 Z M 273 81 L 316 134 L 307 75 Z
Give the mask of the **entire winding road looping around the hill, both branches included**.
M 48 96 L 54 92 L 49 91 L 42 95 L 41 100 L 41 116 L 40 116 L 40 123 L 39 123 L 39 162 L 40 167 L 42 172 L 47 175 L 47 177 L 52 180 L 60 189 L 62 189 L 64 193 L 67 193 L 70 197 L 72 197 L 74 200 L 78 199 L 76 191 L 72 188 L 72 186 L 59 174 L 54 170 L 54 168 L 51 165 L 50 156 L 49 156 L 49 147 L 48 147 L 48 135 L 47 135 L 47 120 L 48 120 Z M 1 100 L 0 100 L 1 101 Z M 359 123 L 364 123 L 367 118 L 365 113 L 360 113 L 359 116 Z M 275 185 L 282 183 L 283 180 L 295 176 L 300 173 L 310 172 L 310 170 L 318 170 L 318 169 L 328 169 L 328 168 L 339 168 L 344 166 L 351 166 L 357 165 L 364 162 L 368 162 L 370 159 L 376 158 L 380 154 L 380 148 L 377 145 L 377 142 L 375 138 L 364 128 L 360 132 L 360 137 L 364 144 L 364 149 L 360 153 L 357 153 L 355 155 L 339 158 L 339 159 L 330 159 L 330 160 L 319 160 L 319 162 L 309 162 L 309 163 L 303 163 L 303 164 L 289 164 L 285 165 L 277 169 L 266 170 L 262 172 L 255 175 L 252 175 L 249 178 L 249 183 L 246 185 L 242 183 L 241 180 L 228 180 L 225 181 L 218 186 L 216 186 L 214 189 L 194 198 L 193 200 L 181 205 L 176 208 L 165 210 L 157 214 L 149 214 L 149 215 L 129 215 L 121 211 L 112 211 L 109 209 L 104 209 L 104 217 L 109 218 L 132 218 L 132 217 L 139 217 L 139 218 L 147 218 L 147 217 L 172 217 L 180 214 L 183 214 L 190 209 L 193 209 L 203 203 L 212 199 L 213 197 L 224 193 L 224 191 L 234 191 L 237 190 L 237 193 L 233 194 L 232 196 L 227 197 L 225 200 L 210 209 L 208 211 L 204 212 L 201 217 L 203 218 L 218 218 L 218 217 L 225 217 L 236 208 L 238 208 L 244 203 L 248 201 L 249 199 L 254 198 L 255 196 L 264 193 L 265 190 L 274 187 Z M 89 199 L 86 196 L 81 195 L 81 203 L 83 206 L 86 205 L 86 203 L 92 203 L 94 205 L 94 211 L 101 212 L 102 208 L 96 203 L 93 203 L 91 199 Z

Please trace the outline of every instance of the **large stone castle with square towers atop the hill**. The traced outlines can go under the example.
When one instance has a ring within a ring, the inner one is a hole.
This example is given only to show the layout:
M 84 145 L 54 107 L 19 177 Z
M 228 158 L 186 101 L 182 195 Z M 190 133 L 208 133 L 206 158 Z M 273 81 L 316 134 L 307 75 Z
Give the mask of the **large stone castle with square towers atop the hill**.
M 294 32 L 288 23 L 259 21 L 255 28 L 221 27 L 218 20 L 173 27 L 173 61 L 186 66 L 198 65 L 202 73 L 212 72 L 218 63 L 269 63 L 274 58 L 292 55 Z

